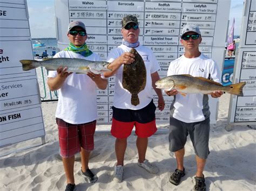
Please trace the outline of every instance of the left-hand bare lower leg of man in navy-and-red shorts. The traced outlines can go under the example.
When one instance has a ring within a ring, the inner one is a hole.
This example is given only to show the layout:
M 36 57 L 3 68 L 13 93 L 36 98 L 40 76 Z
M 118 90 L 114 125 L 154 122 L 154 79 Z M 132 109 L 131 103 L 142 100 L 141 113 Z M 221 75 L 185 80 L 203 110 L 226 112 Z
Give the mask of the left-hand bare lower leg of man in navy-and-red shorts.
M 124 165 L 124 154 L 127 146 L 127 138 L 124 139 L 116 139 L 116 156 L 117 156 L 117 166 L 118 165 Z

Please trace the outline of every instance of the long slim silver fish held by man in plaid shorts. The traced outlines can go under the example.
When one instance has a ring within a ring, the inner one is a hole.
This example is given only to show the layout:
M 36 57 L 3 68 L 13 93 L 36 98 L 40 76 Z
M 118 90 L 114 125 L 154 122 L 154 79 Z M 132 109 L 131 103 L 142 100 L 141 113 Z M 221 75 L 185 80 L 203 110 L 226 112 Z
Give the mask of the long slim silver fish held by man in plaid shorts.
M 22 63 L 22 69 L 24 71 L 34 69 L 40 66 L 45 67 L 47 70 L 57 70 L 58 67 L 68 67 L 68 72 L 74 72 L 77 74 L 87 74 L 91 71 L 95 74 L 111 71 L 108 69 L 109 62 L 105 61 L 90 61 L 78 58 L 52 58 L 43 61 L 37 60 L 20 60 Z

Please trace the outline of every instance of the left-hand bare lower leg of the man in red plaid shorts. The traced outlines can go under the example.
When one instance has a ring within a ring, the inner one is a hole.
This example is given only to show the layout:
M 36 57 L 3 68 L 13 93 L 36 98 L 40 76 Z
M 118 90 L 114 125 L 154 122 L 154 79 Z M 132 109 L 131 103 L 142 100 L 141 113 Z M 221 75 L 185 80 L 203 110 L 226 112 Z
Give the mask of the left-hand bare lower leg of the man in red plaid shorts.
M 74 179 L 74 164 L 75 164 L 75 156 L 70 158 L 62 158 L 65 174 L 66 174 L 66 182 L 75 184 Z

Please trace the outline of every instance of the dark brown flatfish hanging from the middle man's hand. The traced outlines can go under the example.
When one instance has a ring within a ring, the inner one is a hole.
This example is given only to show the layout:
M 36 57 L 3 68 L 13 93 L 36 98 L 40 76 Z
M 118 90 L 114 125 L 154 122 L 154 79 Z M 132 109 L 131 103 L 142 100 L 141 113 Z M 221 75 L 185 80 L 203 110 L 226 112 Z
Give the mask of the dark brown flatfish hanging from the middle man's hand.
M 139 104 L 139 92 L 144 90 L 146 86 L 146 67 L 142 56 L 132 48 L 130 53 L 134 54 L 134 62 L 130 65 L 124 65 L 123 68 L 123 87 L 131 94 L 131 104 Z

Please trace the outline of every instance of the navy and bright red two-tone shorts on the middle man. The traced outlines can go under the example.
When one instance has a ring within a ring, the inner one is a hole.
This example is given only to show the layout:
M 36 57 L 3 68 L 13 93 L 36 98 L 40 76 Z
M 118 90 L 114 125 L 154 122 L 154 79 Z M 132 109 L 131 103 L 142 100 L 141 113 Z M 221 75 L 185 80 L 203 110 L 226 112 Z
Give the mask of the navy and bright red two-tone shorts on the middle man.
M 112 107 L 113 117 L 111 134 L 116 138 L 127 138 L 131 135 L 133 126 L 138 137 L 152 136 L 157 131 L 156 105 L 151 101 L 145 108 L 139 110 L 119 109 Z

